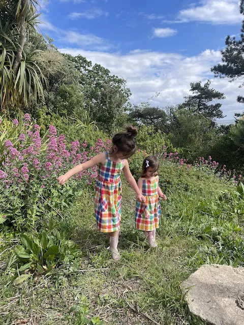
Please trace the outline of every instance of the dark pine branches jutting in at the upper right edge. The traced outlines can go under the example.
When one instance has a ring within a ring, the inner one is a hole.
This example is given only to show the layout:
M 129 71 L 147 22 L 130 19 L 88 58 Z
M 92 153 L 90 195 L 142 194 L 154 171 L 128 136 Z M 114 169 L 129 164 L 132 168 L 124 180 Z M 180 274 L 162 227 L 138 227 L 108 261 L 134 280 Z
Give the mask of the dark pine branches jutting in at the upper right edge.
M 244 0 L 240 1 L 240 13 L 244 15 Z M 222 62 L 214 66 L 211 71 L 215 77 L 230 78 L 230 81 L 244 77 L 244 19 L 240 29 L 240 39 L 228 35 L 225 40 L 226 48 L 221 51 Z M 239 87 L 243 86 L 240 85 Z M 238 96 L 237 102 L 244 103 L 244 97 Z

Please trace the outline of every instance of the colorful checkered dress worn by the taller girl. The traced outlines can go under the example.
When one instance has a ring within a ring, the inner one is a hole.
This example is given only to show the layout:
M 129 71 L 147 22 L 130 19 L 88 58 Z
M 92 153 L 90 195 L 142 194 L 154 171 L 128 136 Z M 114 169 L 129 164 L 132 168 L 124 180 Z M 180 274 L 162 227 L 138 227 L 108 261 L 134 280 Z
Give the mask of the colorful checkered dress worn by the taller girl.
M 99 167 L 95 185 L 94 208 L 98 230 L 102 233 L 119 231 L 121 219 L 122 186 L 120 174 L 125 160 L 115 163 L 106 152 L 105 165 Z

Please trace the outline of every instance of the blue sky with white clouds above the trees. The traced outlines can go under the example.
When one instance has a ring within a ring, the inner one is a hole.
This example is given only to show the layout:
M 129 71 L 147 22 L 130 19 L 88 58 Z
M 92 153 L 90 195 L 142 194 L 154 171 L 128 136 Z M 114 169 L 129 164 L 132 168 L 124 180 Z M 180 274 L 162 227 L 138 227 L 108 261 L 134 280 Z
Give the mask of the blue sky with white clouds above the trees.
M 81 54 L 127 79 L 131 101 L 156 105 L 184 101 L 190 82 L 212 81 L 225 92 L 223 111 L 231 120 L 240 81 L 213 78 L 225 37 L 238 35 L 238 0 L 41 0 L 41 26 L 60 51 Z

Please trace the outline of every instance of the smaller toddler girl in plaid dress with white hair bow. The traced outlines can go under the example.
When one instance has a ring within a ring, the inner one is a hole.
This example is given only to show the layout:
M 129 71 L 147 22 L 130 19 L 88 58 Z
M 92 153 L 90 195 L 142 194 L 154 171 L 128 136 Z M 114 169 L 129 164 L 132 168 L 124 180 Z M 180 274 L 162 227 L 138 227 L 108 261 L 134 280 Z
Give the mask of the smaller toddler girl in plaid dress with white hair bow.
M 159 197 L 167 200 L 159 187 L 159 159 L 148 156 L 142 165 L 142 174 L 138 180 L 140 193 L 146 198 L 145 202 L 136 203 L 136 229 L 145 232 L 150 247 L 157 247 L 156 229 L 159 228 L 160 201 Z

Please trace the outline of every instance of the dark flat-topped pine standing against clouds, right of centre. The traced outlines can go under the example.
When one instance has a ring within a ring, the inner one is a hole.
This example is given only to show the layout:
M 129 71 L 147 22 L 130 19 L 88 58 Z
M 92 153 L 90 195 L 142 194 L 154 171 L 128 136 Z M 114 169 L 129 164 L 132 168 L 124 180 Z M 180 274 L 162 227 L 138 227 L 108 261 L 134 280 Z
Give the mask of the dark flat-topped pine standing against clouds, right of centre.
M 185 97 L 185 103 L 181 104 L 179 108 L 191 109 L 193 113 L 202 114 L 205 117 L 214 121 L 217 118 L 223 118 L 223 112 L 220 109 L 222 104 L 209 104 L 213 100 L 223 100 L 225 95 L 223 92 L 209 88 L 211 82 L 208 80 L 203 86 L 201 81 L 191 83 L 191 91 L 193 95 Z

